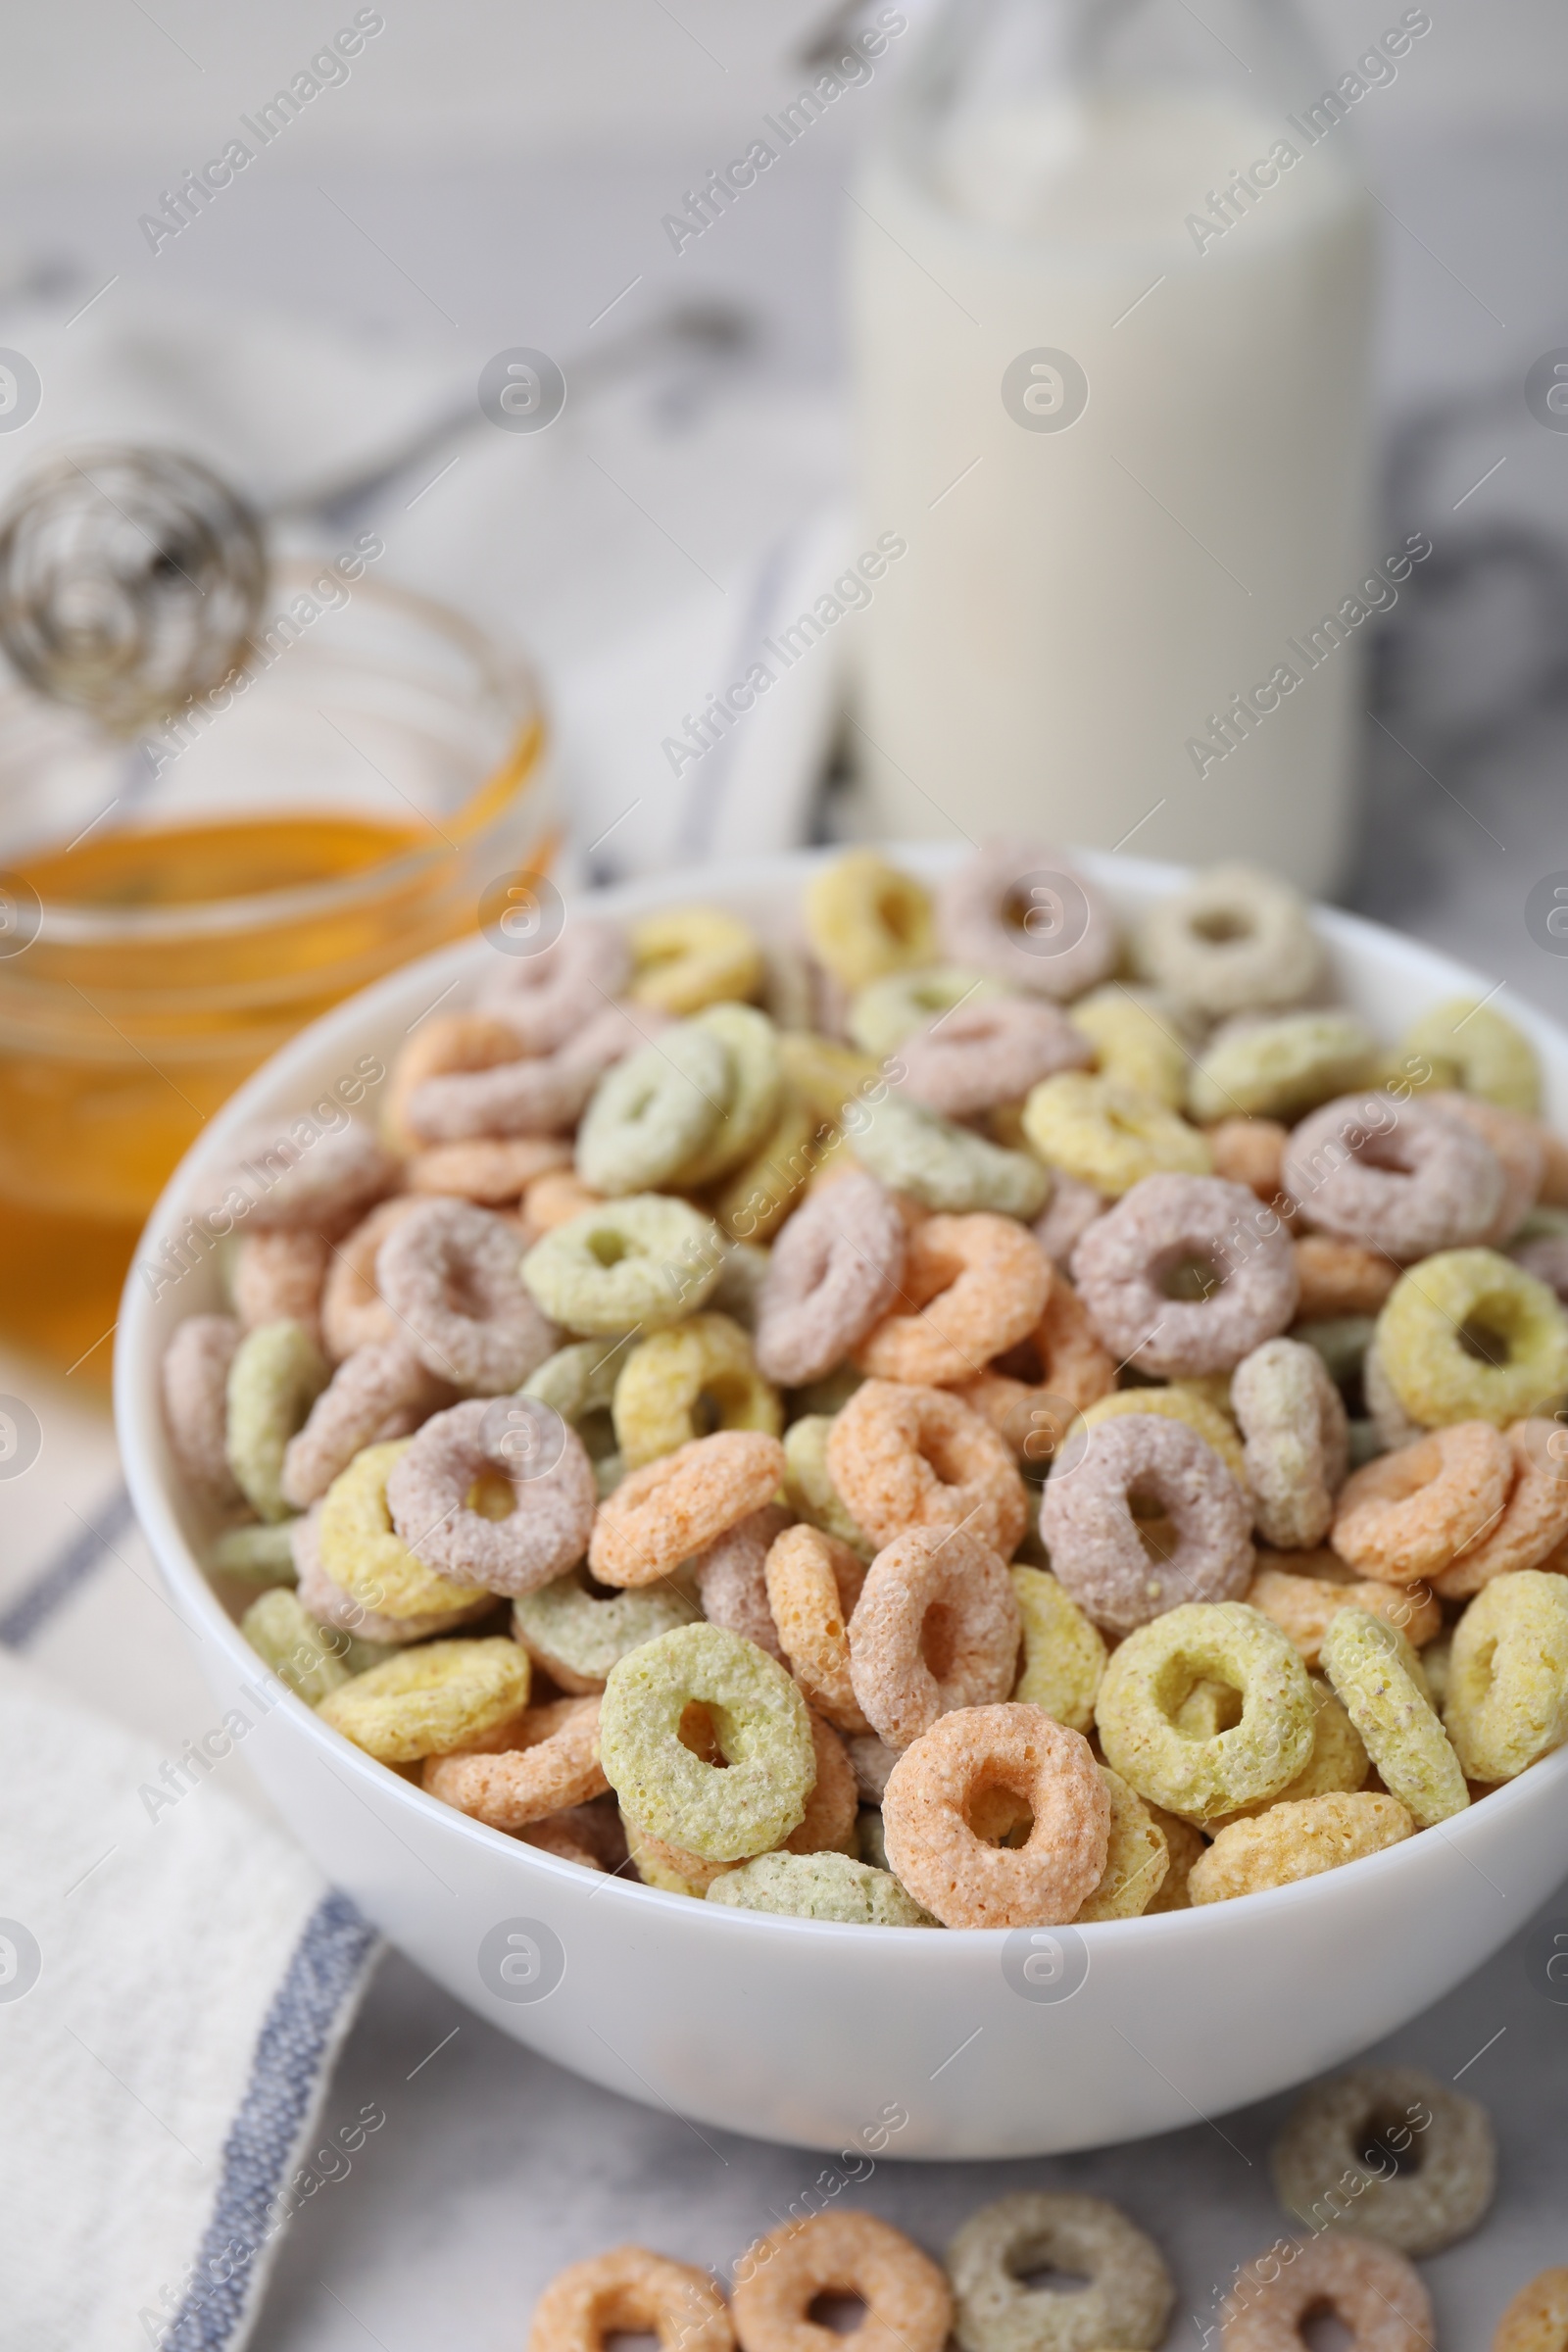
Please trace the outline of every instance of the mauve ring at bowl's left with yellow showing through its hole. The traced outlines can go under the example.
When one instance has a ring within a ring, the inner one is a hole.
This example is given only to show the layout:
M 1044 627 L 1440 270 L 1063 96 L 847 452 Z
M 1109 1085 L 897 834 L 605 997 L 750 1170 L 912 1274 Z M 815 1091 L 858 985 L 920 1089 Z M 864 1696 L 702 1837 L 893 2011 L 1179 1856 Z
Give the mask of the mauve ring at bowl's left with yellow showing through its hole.
M 454 1585 L 489 1592 L 538 1592 L 574 1569 L 588 1550 L 597 1501 L 592 1463 L 578 1432 L 550 1414 L 548 1442 L 508 1477 L 508 1425 L 498 1404 L 470 1397 L 425 1421 L 393 1465 L 386 1501 L 393 1526 L 428 1569 Z M 491 1519 L 468 1503 L 482 1479 L 510 1484 L 515 1508 Z

